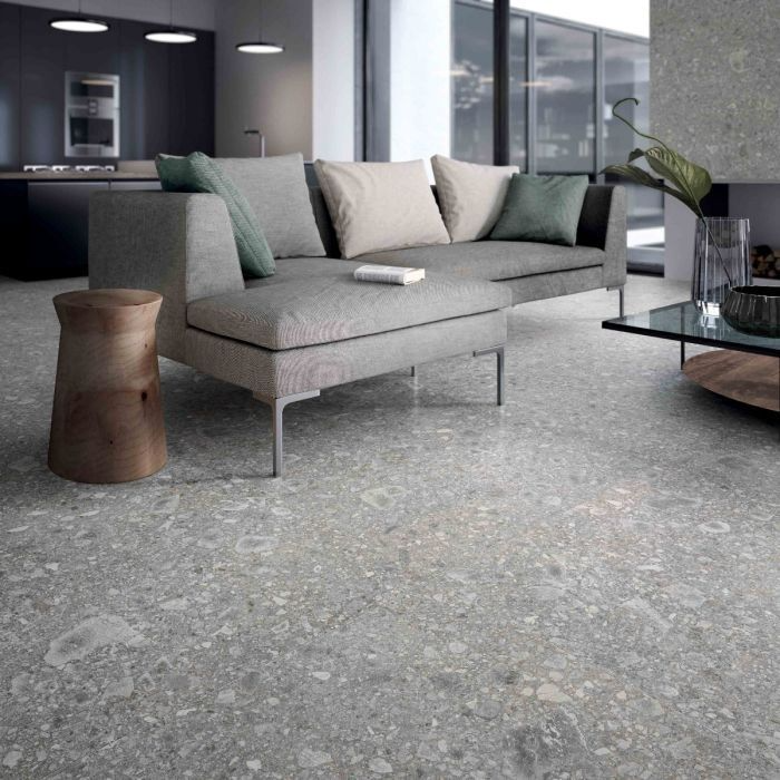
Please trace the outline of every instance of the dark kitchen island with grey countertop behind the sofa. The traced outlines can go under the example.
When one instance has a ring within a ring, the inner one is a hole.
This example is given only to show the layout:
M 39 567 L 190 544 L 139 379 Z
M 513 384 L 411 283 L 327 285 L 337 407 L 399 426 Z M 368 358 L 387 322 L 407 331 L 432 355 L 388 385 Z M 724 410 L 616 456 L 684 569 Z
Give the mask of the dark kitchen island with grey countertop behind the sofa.
M 89 198 L 105 189 L 159 189 L 159 179 L 129 170 L 0 173 L 0 274 L 86 275 Z

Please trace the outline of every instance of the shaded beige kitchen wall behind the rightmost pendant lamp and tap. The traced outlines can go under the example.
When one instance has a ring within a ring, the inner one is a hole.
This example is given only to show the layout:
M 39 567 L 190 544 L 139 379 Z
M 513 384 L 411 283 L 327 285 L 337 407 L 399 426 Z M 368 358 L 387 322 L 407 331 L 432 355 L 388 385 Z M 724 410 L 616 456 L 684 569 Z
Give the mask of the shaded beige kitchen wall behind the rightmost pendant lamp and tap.
M 323 0 L 223 0 L 216 7 L 216 154 L 257 154 L 260 129 L 266 154 L 312 156 L 312 2 Z M 246 55 L 235 45 L 260 35 L 283 43 L 276 55 Z

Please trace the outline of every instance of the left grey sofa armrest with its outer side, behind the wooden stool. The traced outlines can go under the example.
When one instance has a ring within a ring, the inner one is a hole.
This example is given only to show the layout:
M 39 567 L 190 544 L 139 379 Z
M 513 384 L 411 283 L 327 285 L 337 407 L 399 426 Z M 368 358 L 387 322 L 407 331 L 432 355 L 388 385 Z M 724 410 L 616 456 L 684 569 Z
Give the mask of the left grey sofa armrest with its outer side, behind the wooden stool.
M 184 360 L 187 303 L 244 289 L 224 201 L 191 193 L 96 193 L 89 204 L 89 286 L 160 293 L 158 351 Z

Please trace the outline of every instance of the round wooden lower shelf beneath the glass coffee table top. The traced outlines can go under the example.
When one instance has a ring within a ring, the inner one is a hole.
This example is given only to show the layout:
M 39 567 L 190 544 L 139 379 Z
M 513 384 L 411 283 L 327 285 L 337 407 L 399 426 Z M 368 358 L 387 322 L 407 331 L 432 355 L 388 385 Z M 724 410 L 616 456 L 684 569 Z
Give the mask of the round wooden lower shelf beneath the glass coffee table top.
M 752 407 L 780 411 L 780 359 L 716 350 L 686 360 L 685 376 L 696 384 Z

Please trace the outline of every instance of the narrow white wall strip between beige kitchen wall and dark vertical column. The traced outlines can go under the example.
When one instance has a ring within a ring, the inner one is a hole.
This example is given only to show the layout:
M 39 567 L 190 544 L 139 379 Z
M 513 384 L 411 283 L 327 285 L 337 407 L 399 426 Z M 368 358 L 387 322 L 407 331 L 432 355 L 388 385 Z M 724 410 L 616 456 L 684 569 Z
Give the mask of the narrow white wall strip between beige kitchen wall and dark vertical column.
M 312 157 L 354 159 L 354 0 L 312 3 Z

